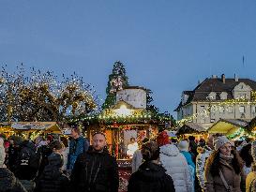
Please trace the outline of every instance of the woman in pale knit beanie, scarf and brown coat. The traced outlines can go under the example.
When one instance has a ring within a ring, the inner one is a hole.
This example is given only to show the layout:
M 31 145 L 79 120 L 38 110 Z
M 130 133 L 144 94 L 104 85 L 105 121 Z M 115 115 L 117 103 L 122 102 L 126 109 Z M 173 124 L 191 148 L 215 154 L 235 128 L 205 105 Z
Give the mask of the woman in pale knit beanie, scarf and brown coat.
M 214 140 L 215 151 L 209 156 L 204 169 L 204 190 L 209 192 L 245 191 L 246 176 L 243 161 L 232 150 L 231 141 L 225 136 Z

